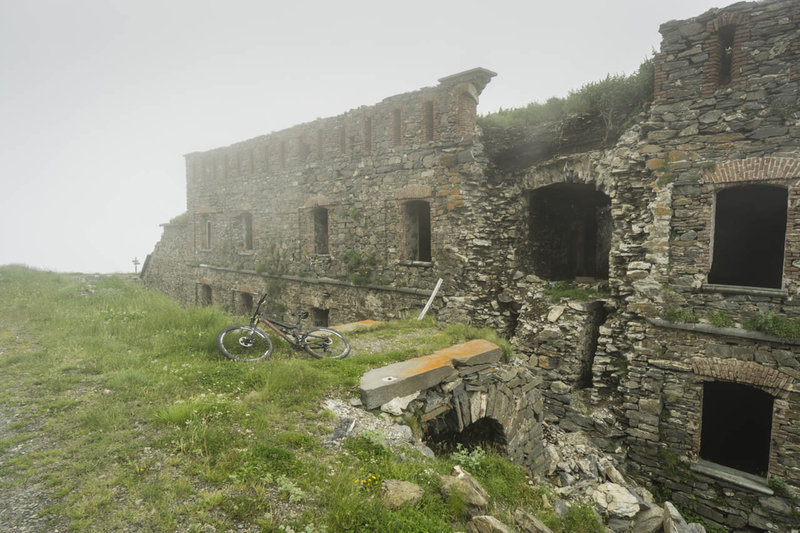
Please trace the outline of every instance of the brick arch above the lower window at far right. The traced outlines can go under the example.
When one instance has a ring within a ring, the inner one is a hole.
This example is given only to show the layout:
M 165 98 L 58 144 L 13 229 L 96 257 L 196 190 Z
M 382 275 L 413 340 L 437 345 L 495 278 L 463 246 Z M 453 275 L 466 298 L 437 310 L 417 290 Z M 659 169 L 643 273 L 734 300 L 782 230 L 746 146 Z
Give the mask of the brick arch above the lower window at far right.
M 718 381 L 732 381 L 752 385 L 769 394 L 786 398 L 795 380 L 792 376 L 750 361 L 720 359 L 718 357 L 693 357 L 692 371 L 698 376 Z M 706 380 L 704 380 L 706 381 Z

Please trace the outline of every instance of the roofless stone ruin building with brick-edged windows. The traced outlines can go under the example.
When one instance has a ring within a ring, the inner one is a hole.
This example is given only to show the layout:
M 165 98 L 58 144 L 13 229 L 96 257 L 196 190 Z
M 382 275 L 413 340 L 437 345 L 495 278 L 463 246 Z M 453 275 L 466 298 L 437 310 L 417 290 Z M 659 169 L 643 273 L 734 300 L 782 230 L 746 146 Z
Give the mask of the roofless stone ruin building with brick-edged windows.
M 748 325 L 800 319 L 800 3 L 660 32 L 654 100 L 616 139 L 597 116 L 481 131 L 476 68 L 190 153 L 142 277 L 317 324 L 406 316 L 442 278 L 433 312 L 511 338 L 545 421 L 624 445 L 712 523 L 797 528 L 800 340 Z

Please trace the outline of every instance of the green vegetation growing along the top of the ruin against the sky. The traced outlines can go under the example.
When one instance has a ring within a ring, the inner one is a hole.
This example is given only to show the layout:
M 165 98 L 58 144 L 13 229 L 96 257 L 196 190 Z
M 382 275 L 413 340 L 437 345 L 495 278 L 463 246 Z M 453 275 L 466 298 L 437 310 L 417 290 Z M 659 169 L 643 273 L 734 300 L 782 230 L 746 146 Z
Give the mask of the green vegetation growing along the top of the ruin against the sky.
M 653 101 L 653 59 L 645 60 L 629 76 L 608 75 L 604 80 L 587 83 L 566 98 L 553 97 L 544 104 L 532 102 L 526 107 L 500 109 L 479 119 L 484 127 L 534 125 L 562 120 L 569 114 L 596 113 L 606 126 L 606 137 L 622 132 L 630 119 Z

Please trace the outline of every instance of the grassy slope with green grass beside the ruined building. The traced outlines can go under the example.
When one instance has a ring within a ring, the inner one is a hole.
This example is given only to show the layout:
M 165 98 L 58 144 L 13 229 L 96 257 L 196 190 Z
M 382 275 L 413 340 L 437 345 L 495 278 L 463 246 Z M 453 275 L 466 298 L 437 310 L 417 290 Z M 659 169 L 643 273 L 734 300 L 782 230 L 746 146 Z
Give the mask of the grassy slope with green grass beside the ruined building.
M 269 361 L 240 364 L 214 336 L 241 320 L 121 278 L 0 267 L 0 405 L 19 417 L 0 438 L 0 490 L 40 482 L 43 512 L 79 531 L 463 528 L 459 502 L 439 496 L 453 457 L 400 457 L 369 435 L 323 448 L 336 421 L 320 403 L 354 396 L 369 368 L 492 332 L 397 322 L 353 336 L 345 360 L 276 343 Z M 26 442 L 38 444 L 13 453 Z M 496 514 L 524 506 L 556 530 L 597 526 L 586 508 L 564 520 L 542 510 L 504 459 L 473 463 Z M 388 478 L 419 483 L 424 499 L 383 509 Z

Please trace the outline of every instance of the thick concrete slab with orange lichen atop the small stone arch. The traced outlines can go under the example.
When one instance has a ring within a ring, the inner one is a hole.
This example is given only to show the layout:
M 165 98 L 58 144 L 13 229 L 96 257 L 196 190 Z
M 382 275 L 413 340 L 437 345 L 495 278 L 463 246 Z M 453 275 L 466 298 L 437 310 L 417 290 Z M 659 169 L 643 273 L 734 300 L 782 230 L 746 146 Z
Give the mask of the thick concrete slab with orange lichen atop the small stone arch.
M 361 401 L 367 409 L 375 409 L 392 398 L 435 387 L 456 374 L 455 364 L 499 361 L 501 355 L 502 350 L 496 344 L 477 339 L 375 368 L 361 377 Z

